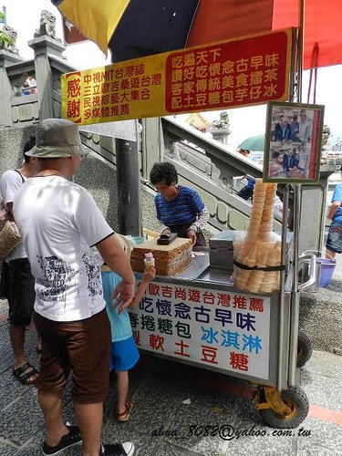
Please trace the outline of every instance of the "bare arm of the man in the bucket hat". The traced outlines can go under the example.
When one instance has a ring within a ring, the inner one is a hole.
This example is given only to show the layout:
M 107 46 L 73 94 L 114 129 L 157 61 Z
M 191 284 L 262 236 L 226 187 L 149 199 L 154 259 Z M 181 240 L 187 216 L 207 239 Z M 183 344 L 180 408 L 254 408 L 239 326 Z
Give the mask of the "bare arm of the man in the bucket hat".
M 103 241 L 96 244 L 98 252 L 110 269 L 122 278 L 122 282 L 115 288 L 112 299 L 117 298 L 115 307 L 119 306 L 119 313 L 130 306 L 134 297 L 135 277 L 130 266 L 130 260 L 123 250 L 119 238 L 112 234 Z M 119 296 L 119 297 L 117 297 Z

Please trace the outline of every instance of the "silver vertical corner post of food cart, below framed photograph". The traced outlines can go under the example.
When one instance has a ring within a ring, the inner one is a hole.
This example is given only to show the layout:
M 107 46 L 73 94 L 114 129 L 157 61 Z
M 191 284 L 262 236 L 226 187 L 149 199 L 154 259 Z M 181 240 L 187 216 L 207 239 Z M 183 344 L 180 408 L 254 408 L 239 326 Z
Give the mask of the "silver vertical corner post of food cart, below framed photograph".
M 283 224 L 282 224 L 282 262 L 281 264 L 287 264 L 288 258 L 286 257 L 287 247 L 287 219 L 288 219 L 288 197 L 289 197 L 289 186 L 285 184 L 283 192 Z M 283 353 L 284 353 L 284 312 L 285 312 L 285 271 L 281 272 L 280 275 L 280 296 L 279 296 L 279 334 L 278 334 L 278 366 L 277 366 L 277 382 L 276 388 L 281 391 L 284 389 L 283 382 Z

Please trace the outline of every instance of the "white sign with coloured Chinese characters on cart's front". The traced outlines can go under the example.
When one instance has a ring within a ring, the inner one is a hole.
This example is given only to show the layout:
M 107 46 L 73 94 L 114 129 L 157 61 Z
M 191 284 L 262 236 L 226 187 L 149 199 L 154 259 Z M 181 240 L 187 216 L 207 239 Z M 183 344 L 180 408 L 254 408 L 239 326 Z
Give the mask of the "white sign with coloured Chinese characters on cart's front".
M 268 379 L 270 297 L 155 282 L 130 309 L 139 348 Z

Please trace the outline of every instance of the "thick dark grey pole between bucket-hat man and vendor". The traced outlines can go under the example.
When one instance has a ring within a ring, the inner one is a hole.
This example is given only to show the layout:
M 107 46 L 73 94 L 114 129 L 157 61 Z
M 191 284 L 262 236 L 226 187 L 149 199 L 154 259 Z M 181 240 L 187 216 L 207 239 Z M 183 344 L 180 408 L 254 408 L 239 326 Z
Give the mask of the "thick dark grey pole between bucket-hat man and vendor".
M 115 140 L 119 233 L 140 236 L 140 164 L 138 140 Z

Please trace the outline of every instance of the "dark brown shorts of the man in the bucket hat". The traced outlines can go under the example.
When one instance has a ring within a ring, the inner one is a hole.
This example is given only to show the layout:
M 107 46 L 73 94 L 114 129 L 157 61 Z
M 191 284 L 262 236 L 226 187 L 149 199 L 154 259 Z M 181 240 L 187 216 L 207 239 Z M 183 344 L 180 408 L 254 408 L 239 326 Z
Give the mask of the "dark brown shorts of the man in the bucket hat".
M 60 394 L 71 371 L 76 402 L 103 402 L 109 393 L 111 344 L 106 309 L 86 320 L 67 323 L 35 312 L 34 321 L 43 349 L 36 380 L 38 391 Z

